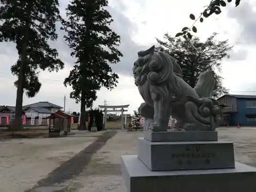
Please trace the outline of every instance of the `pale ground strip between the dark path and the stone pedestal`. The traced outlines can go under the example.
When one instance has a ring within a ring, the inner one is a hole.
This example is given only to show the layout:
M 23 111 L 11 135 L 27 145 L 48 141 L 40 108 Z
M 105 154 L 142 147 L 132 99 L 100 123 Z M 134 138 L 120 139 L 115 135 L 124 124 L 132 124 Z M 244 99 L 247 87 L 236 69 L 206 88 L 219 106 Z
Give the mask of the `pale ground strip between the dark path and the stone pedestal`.
M 86 169 L 73 181 L 80 183 L 72 192 L 126 192 L 121 170 L 121 155 L 137 154 L 137 138 L 142 132 L 119 131 L 95 154 Z

